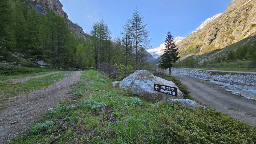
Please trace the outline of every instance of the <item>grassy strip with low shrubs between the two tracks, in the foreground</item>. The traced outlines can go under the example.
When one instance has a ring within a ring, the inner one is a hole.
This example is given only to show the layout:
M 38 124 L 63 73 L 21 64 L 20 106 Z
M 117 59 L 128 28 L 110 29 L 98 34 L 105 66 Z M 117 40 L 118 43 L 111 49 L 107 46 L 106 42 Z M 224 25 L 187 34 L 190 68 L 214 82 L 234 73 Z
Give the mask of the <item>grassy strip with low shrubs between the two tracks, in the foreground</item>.
M 242 121 L 178 102 L 152 105 L 130 91 L 112 87 L 95 70 L 83 71 L 79 86 L 71 93 L 80 98 L 62 102 L 33 125 L 28 135 L 11 143 L 256 142 L 255 129 Z

